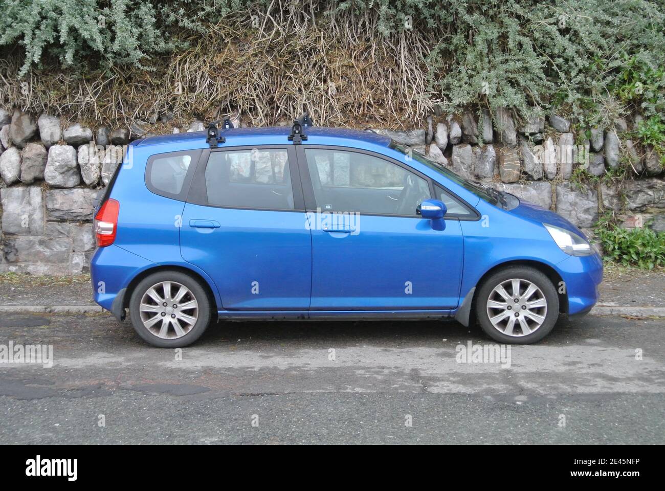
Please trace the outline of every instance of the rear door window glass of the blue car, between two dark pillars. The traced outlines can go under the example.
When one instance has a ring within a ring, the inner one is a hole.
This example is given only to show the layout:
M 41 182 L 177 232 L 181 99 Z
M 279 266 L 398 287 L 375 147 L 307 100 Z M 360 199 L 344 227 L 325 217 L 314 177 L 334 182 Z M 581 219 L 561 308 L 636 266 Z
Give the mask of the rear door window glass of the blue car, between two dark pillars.
M 205 167 L 208 204 L 293 210 L 286 149 L 248 148 L 212 152 Z

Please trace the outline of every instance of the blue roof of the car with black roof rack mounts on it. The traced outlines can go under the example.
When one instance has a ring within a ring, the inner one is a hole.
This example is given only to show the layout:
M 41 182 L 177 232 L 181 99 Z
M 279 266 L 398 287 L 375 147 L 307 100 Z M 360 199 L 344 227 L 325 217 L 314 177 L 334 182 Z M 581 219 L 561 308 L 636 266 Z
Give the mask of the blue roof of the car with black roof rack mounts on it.
M 321 137 L 325 139 L 338 138 L 340 140 L 356 140 L 357 142 L 374 144 L 378 146 L 388 146 L 390 144 L 390 137 L 388 136 L 384 136 L 373 131 L 352 130 L 350 128 L 325 128 L 311 126 L 309 128 L 305 128 L 304 133 L 314 140 L 317 140 L 319 139 L 318 137 Z M 144 138 L 143 140 L 139 140 L 136 142 L 136 145 L 150 146 L 180 143 L 186 141 L 194 142 L 196 140 L 201 140 L 201 144 L 205 144 L 206 134 L 207 133 L 205 131 L 193 131 L 186 133 L 150 136 L 148 138 Z M 281 136 L 283 136 L 284 143 L 289 143 L 287 136 L 291 134 L 291 127 L 263 126 L 258 128 L 233 128 L 230 130 L 220 130 L 219 134 L 226 138 L 226 142 L 222 144 L 222 146 L 233 146 L 234 144 L 256 144 L 254 140 L 261 138 L 263 138 L 263 142 L 267 144 L 275 144 L 275 140 L 281 140 L 281 138 L 279 138 Z M 310 140 L 307 140 L 307 142 L 309 141 Z

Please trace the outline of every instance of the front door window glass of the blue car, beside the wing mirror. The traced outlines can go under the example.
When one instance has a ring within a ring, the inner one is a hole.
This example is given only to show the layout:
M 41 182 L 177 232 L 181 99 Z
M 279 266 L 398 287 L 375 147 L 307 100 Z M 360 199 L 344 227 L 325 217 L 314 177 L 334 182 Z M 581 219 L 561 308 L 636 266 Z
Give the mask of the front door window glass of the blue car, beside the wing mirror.
M 428 182 L 393 162 L 346 150 L 306 148 L 317 208 L 331 212 L 417 216 Z

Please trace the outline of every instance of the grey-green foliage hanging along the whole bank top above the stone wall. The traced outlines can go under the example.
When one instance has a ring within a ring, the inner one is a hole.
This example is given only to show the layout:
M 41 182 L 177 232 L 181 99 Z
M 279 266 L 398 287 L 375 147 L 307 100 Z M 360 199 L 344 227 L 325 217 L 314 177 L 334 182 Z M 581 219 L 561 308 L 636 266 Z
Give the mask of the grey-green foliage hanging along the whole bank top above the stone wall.
M 522 117 L 555 109 L 580 128 L 607 126 L 633 108 L 660 123 L 665 114 L 662 1 L 0 0 L 0 12 L 0 47 L 19 48 L 21 76 L 47 59 L 159 71 L 164 55 L 186 46 L 213 57 L 216 39 L 279 58 L 272 35 L 253 37 L 255 16 L 261 29 L 278 26 L 278 43 L 283 35 L 301 43 L 303 59 L 342 66 L 328 47 L 368 43 L 376 63 L 375 52 L 394 50 L 402 83 L 391 90 L 402 105 L 509 106 Z M 371 82 L 380 87 L 382 77 Z

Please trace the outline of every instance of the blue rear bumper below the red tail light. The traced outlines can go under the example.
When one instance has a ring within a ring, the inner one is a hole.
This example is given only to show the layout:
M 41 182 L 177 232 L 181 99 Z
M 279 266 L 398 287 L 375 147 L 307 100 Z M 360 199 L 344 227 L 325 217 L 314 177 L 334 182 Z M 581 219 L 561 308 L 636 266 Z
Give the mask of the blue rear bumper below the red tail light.
M 99 247 L 90 260 L 92 298 L 118 320 L 124 319 L 125 292 L 138 271 L 154 265 L 118 246 Z

